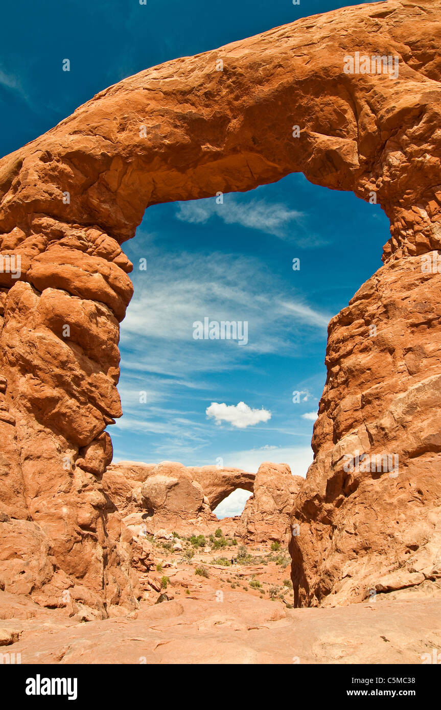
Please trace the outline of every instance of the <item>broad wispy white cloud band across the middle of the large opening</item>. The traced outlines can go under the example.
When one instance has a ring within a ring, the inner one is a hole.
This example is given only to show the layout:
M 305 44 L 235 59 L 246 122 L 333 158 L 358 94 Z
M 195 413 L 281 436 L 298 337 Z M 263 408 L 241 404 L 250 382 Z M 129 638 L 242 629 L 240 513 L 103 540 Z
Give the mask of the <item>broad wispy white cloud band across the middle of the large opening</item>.
M 293 324 L 322 331 L 330 320 L 330 315 L 307 305 L 302 297 L 287 299 L 283 285 L 257 258 L 218 252 L 164 255 L 154 247 L 146 248 L 143 258 L 147 268 L 134 271 L 135 294 L 121 324 L 123 344 L 148 339 L 149 349 L 154 349 L 154 342 L 164 340 L 192 342 L 193 322 L 208 316 L 217 321 L 247 321 L 249 343 L 243 349 L 274 352 L 285 349 Z M 220 366 L 229 346 L 237 347 L 233 341 L 224 344 L 217 349 Z M 207 364 L 206 353 L 204 358 Z M 158 362 L 163 359 L 156 358 Z M 195 362 L 195 368 L 200 363 Z

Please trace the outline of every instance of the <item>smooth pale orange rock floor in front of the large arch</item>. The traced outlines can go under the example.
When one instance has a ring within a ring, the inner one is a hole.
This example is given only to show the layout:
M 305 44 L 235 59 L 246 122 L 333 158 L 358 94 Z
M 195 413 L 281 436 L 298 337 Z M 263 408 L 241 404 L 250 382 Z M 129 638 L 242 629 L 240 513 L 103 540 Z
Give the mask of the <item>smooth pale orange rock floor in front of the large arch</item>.
M 156 606 L 141 602 L 129 616 L 87 624 L 28 600 L 19 607 L 14 599 L 21 598 L 4 600 L 0 591 L 0 609 L 14 613 L 1 621 L 0 638 L 9 641 L 1 651 L 11 659 L 20 655 L 22 664 L 61 665 L 437 662 L 439 599 L 286 609 L 234 590 L 217 603 L 209 580 L 203 582 L 190 596 Z

